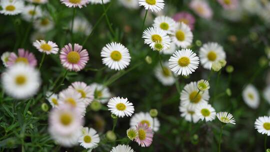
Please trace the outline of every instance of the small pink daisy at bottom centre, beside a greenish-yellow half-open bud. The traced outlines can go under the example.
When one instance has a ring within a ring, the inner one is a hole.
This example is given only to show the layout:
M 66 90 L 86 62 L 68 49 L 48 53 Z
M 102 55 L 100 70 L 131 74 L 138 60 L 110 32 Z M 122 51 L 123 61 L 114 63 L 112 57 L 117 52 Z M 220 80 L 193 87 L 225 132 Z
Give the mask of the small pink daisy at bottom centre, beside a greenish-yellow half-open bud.
M 138 123 L 136 126 L 138 136 L 135 141 L 142 147 L 150 146 L 153 140 L 153 131 L 146 123 Z

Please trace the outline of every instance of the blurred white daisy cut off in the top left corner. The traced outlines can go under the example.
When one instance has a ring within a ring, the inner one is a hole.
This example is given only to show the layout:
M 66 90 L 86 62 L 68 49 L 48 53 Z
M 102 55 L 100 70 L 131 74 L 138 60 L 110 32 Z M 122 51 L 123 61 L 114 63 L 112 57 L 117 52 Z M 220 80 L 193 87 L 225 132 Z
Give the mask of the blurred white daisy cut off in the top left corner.
M 4 15 L 16 15 L 22 12 L 24 3 L 22 0 L 1 0 L 2 10 L 0 13 Z

